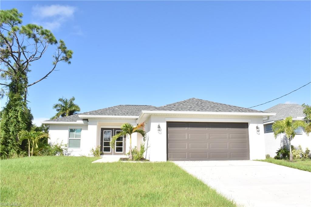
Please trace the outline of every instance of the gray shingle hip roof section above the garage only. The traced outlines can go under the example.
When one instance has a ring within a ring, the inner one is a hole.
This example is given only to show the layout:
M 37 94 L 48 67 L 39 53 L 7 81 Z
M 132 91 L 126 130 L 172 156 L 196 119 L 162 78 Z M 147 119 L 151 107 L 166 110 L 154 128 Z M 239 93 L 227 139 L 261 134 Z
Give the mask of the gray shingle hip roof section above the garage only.
M 262 112 L 254 109 L 247 109 L 239 106 L 232 106 L 198 98 L 189 98 L 184 101 L 175 102 L 165 106 L 156 107 L 151 110 L 159 111 L 206 111 L 206 112 Z

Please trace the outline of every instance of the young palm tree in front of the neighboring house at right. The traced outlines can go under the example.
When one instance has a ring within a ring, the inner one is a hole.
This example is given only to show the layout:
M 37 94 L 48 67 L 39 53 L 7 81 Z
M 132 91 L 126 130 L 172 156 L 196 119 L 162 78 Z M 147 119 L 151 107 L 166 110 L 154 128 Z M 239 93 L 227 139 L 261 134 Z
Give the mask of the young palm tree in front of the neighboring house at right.
M 305 127 L 306 123 L 304 121 L 293 121 L 293 117 L 286 117 L 284 120 L 276 121 L 272 125 L 272 130 L 274 133 L 274 137 L 281 133 L 285 133 L 285 137 L 288 139 L 288 143 L 290 145 L 290 141 L 292 141 L 296 135 L 295 130 L 298 127 Z M 290 145 L 290 161 L 293 161 L 293 155 L 291 153 L 291 145 Z

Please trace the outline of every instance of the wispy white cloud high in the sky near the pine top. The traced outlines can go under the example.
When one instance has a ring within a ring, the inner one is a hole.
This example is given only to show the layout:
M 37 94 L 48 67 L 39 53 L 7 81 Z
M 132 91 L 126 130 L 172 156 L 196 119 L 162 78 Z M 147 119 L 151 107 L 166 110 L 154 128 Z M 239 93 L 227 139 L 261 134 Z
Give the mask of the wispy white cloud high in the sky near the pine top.
M 75 11 L 76 7 L 59 4 L 32 7 L 32 15 L 36 19 L 36 24 L 50 30 L 60 28 L 63 23 L 73 18 Z

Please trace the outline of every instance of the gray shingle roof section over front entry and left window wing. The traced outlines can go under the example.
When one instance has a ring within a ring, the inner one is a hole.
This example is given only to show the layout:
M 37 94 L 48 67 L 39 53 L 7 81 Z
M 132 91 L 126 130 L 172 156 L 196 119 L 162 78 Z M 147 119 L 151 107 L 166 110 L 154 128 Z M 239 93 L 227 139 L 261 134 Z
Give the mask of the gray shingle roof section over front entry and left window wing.
M 112 106 L 104 109 L 89 111 L 85 113 L 81 113 L 79 115 L 107 115 L 107 116 L 139 116 L 142 110 L 150 110 L 156 108 L 155 106 L 149 105 L 118 105 Z M 60 117 L 57 119 L 50 119 L 47 121 L 77 121 L 82 120 L 79 116 L 71 115 Z

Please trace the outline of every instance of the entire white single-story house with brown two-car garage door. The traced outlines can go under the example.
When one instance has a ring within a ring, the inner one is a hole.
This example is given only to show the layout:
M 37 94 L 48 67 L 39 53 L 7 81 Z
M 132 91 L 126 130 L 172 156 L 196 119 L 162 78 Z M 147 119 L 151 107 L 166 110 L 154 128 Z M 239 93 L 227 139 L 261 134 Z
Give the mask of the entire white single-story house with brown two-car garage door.
M 254 160 L 265 158 L 262 119 L 275 115 L 197 98 L 155 107 L 119 105 L 52 119 L 51 142 L 68 144 L 71 155 L 89 155 L 100 145 L 102 155 L 125 156 L 127 137 L 109 146 L 123 123 L 146 122 L 146 159 L 166 160 Z M 143 142 L 132 136 L 132 146 Z

